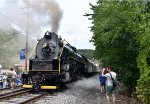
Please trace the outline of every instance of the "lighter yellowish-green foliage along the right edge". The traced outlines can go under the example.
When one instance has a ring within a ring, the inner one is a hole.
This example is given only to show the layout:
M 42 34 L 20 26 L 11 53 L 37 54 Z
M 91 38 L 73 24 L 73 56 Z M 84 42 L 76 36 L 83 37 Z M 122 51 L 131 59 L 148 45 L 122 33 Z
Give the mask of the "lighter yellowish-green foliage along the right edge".
M 137 58 L 140 68 L 140 78 L 137 83 L 137 94 L 144 104 L 150 102 L 150 1 L 142 2 L 140 5 L 140 31 L 137 37 L 142 49 Z

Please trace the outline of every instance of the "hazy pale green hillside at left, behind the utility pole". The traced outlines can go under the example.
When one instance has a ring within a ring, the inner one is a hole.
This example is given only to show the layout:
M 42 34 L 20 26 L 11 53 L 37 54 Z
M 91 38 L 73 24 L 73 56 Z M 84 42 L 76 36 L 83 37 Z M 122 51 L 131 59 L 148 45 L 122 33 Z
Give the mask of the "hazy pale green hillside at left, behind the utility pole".
M 19 48 L 16 41 L 16 34 L 7 35 L 4 32 L 0 32 L 0 64 L 3 65 L 3 68 L 12 67 L 15 64 L 17 55 L 19 56 Z

